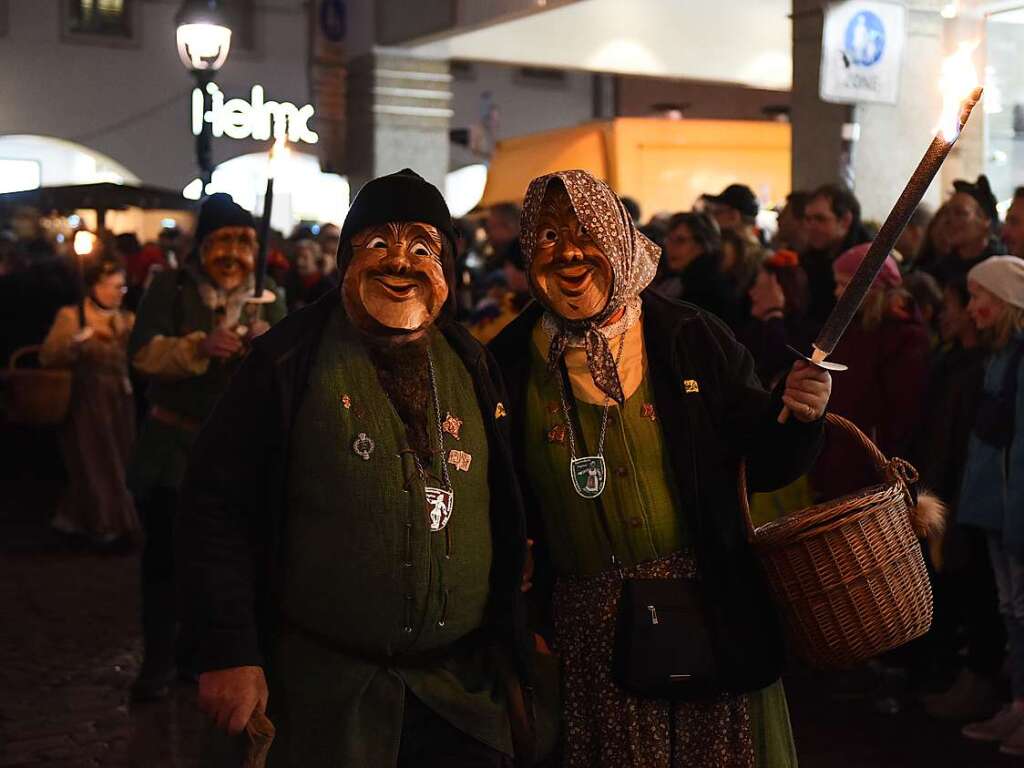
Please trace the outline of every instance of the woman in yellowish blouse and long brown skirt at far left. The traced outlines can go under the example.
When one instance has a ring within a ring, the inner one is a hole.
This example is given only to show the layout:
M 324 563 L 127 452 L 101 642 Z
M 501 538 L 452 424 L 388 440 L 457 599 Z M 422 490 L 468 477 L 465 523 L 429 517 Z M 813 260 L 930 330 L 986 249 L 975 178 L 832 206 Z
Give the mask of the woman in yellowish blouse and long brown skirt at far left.
M 53 527 L 110 545 L 139 527 L 125 481 L 135 437 L 127 349 L 135 316 L 121 309 L 125 271 L 117 262 L 89 266 L 85 284 L 88 296 L 57 312 L 39 355 L 44 366 L 75 371 L 60 434 L 69 487 Z

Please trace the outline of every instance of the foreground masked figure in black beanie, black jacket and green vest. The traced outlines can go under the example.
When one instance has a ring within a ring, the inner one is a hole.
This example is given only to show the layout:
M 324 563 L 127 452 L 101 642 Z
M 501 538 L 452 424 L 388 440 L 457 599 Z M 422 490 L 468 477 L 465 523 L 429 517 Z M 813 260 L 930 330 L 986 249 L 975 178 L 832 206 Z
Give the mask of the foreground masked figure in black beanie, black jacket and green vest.
M 269 699 L 271 766 L 500 766 L 525 535 L 497 368 L 452 321 L 455 233 L 368 183 L 341 289 L 257 340 L 200 437 L 178 539 L 200 705 Z M 501 646 L 500 652 L 496 646 Z

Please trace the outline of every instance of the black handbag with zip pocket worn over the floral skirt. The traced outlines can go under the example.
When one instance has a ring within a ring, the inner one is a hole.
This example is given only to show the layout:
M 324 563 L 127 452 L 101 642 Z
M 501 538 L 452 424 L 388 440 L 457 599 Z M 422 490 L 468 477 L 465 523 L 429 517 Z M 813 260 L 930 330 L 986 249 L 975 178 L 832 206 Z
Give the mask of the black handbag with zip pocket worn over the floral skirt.
M 721 693 L 697 582 L 627 579 L 618 604 L 611 677 L 644 698 L 686 701 Z

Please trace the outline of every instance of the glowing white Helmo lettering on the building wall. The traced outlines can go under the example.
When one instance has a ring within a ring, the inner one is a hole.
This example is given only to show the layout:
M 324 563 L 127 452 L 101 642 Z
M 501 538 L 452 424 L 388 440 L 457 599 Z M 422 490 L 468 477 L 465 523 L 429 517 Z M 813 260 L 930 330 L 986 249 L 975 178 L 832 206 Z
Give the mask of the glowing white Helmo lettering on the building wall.
M 203 123 L 209 123 L 213 135 L 228 138 L 252 138 L 266 141 L 271 136 L 287 136 L 289 141 L 305 141 L 315 144 L 319 141 L 316 131 L 309 128 L 313 117 L 312 104 L 296 106 L 289 101 L 266 101 L 262 85 L 252 87 L 251 98 L 224 99 L 224 93 L 216 83 L 208 83 L 210 109 L 206 109 L 206 96 L 200 88 L 193 90 L 191 122 L 193 133 L 203 132 Z

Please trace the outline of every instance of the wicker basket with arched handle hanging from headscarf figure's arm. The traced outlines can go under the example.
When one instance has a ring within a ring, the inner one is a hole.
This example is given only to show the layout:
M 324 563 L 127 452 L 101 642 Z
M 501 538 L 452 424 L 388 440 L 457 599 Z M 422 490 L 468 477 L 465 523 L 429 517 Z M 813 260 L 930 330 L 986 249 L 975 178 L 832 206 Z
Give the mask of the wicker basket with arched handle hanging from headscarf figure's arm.
M 857 439 L 884 483 L 755 529 L 741 472 L 751 542 L 764 565 L 791 643 L 810 666 L 850 667 L 921 637 L 932 624 L 932 588 L 910 525 L 916 470 L 889 461 L 853 423 L 827 424 Z

